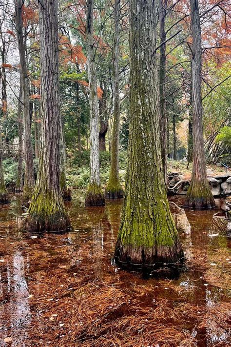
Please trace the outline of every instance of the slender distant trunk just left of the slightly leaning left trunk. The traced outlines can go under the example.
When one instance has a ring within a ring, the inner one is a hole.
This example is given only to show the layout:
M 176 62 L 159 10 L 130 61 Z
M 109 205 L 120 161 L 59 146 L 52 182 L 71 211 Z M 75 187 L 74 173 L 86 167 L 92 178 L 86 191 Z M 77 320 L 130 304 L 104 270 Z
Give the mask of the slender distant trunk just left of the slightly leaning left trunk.
M 19 146 L 18 146 L 18 172 L 16 179 L 16 193 L 19 193 L 23 190 L 23 182 L 22 182 L 22 163 L 23 163 L 23 143 L 22 143 L 22 134 L 23 134 L 23 126 L 22 126 L 22 84 L 20 81 L 20 90 L 19 90 L 19 101 L 18 101 L 18 130 L 19 130 Z

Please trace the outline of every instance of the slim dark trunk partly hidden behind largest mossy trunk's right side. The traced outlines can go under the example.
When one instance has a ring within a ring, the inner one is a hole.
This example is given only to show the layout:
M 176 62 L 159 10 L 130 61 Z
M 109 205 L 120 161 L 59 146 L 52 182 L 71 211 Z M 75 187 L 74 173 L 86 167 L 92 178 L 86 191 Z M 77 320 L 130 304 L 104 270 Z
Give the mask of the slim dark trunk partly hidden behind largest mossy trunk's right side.
M 167 0 L 159 0 L 159 21 L 160 21 L 160 44 L 166 40 L 165 17 Z M 160 47 L 160 68 L 159 68 L 159 92 L 160 92 L 160 134 L 161 134 L 161 158 L 164 172 L 164 180 L 167 186 L 167 118 L 165 101 L 165 71 L 166 71 L 166 44 Z

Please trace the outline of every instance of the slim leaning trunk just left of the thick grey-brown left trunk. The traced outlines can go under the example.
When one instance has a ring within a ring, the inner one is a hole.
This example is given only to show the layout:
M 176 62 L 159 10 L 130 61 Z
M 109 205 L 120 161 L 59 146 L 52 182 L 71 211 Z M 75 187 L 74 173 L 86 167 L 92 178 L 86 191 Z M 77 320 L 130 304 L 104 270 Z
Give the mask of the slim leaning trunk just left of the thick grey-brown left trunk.
M 25 45 L 22 29 L 22 0 L 15 1 L 15 24 L 19 44 L 19 60 L 22 78 L 22 102 L 23 102 L 23 128 L 24 128 L 24 152 L 25 152 L 25 178 L 23 187 L 22 204 L 29 205 L 35 187 L 35 174 L 33 164 L 33 147 L 31 142 L 31 118 L 29 101 L 29 83 L 26 68 Z

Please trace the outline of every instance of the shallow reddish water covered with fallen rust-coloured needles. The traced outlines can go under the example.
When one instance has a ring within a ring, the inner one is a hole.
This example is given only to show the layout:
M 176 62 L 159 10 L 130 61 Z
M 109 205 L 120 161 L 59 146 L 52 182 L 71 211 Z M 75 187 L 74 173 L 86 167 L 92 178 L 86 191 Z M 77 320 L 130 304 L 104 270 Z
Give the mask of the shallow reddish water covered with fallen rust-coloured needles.
M 222 200 L 171 210 L 187 257 L 177 279 L 114 264 L 122 201 L 67 204 L 73 230 L 18 231 L 19 199 L 0 205 L 0 346 L 230 346 L 231 256 Z

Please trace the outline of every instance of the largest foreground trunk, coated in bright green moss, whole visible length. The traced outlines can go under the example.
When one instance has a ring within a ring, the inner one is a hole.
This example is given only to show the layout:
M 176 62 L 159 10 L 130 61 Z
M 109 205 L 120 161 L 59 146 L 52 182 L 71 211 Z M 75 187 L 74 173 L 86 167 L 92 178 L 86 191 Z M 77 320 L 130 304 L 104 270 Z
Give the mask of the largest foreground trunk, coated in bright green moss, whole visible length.
M 183 257 L 161 170 L 155 6 L 152 0 L 130 1 L 128 164 L 115 256 L 137 267 L 159 267 Z

